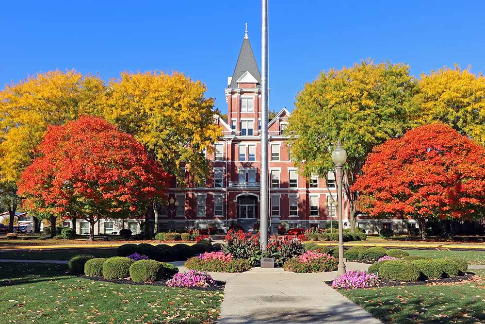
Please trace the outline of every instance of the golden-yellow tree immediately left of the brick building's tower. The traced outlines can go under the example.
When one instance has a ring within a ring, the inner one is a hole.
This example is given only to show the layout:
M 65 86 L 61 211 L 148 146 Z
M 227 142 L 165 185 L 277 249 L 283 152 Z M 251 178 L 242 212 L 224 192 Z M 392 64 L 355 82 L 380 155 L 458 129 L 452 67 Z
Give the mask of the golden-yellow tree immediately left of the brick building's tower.
M 206 86 L 183 73 L 121 73 L 112 79 L 104 117 L 135 136 L 165 171 L 183 179 L 182 165 L 196 181 L 209 172 L 206 152 L 220 135 Z M 158 204 L 153 204 L 158 231 Z

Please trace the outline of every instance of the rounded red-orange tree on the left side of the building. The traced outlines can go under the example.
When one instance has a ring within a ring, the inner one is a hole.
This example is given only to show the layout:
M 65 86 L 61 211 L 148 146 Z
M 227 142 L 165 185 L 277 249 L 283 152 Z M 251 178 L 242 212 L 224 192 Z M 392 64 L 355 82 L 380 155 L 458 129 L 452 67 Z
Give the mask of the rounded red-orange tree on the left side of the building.
M 141 215 L 165 193 L 166 172 L 142 144 L 104 119 L 49 127 L 38 150 L 40 157 L 18 183 L 24 206 L 40 215 L 84 219 L 91 238 L 98 219 Z

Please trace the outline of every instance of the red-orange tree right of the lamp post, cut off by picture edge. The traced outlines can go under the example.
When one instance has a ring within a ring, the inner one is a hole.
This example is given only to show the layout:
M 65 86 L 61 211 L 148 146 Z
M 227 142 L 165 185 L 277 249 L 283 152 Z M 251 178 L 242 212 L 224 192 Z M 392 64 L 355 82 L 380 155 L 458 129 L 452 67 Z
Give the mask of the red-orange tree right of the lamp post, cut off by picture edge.
M 373 217 L 472 218 L 485 206 L 485 150 L 443 124 L 424 125 L 375 147 L 353 190 Z

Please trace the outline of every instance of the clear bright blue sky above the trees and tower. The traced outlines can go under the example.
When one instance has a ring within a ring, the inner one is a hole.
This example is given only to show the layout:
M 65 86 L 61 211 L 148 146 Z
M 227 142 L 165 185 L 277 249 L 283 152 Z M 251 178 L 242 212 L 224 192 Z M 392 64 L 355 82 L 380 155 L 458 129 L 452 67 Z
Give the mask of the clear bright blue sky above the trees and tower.
M 293 108 L 320 71 L 365 58 L 405 62 L 419 75 L 443 65 L 485 70 L 485 1 L 270 0 L 270 108 Z M 178 70 L 224 88 L 248 23 L 260 62 L 260 1 L 8 1 L 2 4 L 0 83 L 76 68 Z

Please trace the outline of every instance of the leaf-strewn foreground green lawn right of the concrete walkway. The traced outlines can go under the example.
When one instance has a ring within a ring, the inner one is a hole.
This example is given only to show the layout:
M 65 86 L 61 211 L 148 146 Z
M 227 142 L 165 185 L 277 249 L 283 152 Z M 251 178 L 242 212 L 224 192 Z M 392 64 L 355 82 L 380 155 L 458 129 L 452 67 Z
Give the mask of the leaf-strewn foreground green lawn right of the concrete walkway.
M 482 276 L 484 271 L 475 273 Z M 342 290 L 384 323 L 483 323 L 485 282 Z

